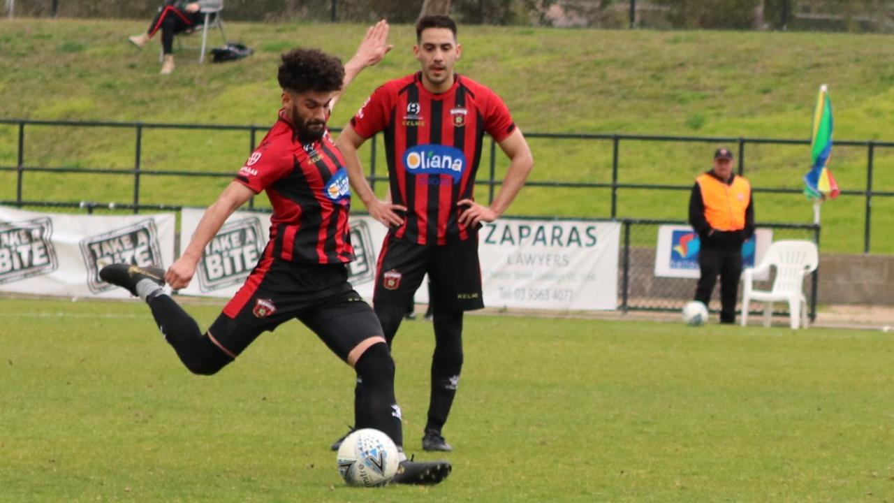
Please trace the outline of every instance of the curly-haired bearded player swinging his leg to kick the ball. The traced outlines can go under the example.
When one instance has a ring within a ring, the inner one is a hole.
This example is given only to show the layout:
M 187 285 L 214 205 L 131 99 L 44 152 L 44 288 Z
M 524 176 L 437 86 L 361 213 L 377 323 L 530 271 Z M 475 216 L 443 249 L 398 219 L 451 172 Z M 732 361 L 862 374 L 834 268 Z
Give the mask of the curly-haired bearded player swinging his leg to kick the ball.
M 350 191 L 344 160 L 326 128 L 333 101 L 344 87 L 391 48 L 385 45 L 387 33 L 384 21 L 367 31 L 345 67 L 318 50 L 284 54 L 278 75 L 283 108 L 276 124 L 205 211 L 181 258 L 166 273 L 114 264 L 99 276 L 149 304 L 167 342 L 196 374 L 220 371 L 262 332 L 297 318 L 365 383 L 355 404 L 358 426 L 384 431 L 400 447 L 401 409 L 394 397 L 391 352 L 375 313 L 348 283 L 346 264 L 354 258 Z M 162 286 L 187 286 L 202 251 L 226 218 L 261 191 L 274 209 L 270 242 L 245 284 L 202 334 Z M 414 463 L 401 457 L 395 483 L 434 484 L 451 472 L 447 462 Z

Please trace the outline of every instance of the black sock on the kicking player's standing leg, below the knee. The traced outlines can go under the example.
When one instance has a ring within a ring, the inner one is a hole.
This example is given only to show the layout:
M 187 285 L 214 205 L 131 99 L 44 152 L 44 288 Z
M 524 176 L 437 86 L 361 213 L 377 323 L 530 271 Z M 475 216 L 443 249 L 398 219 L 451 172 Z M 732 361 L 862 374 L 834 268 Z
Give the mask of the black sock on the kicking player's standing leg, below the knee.
M 400 448 L 403 445 L 401 431 L 401 407 L 394 397 L 394 361 L 388 346 L 382 343 L 369 346 L 354 365 L 363 380 L 359 388 L 359 407 L 354 412 L 354 428 L 375 428 L 384 431 Z

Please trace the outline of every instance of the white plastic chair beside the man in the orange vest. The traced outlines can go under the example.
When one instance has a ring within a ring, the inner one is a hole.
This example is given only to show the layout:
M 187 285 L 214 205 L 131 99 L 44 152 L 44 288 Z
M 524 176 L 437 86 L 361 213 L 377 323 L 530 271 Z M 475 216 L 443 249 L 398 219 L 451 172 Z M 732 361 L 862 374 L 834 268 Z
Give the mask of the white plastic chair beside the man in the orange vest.
M 819 265 L 816 244 L 810 241 L 776 241 L 770 245 L 761 263 L 742 272 L 742 326 L 748 321 L 748 304 L 763 303 L 763 326 L 770 326 L 774 301 L 788 301 L 791 328 L 798 328 L 798 321 L 807 328 L 807 299 L 802 290 L 804 277 Z M 754 289 L 754 277 L 758 273 L 776 268 L 772 289 Z

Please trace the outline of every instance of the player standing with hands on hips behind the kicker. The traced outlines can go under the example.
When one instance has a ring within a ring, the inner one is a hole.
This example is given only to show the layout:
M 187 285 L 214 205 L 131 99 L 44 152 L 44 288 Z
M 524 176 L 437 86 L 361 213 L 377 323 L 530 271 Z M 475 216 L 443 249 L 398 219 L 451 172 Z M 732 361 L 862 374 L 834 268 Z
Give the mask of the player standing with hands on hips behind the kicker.
M 502 99 L 453 72 L 462 49 L 451 18 L 423 17 L 416 35 L 413 53 L 421 71 L 375 90 L 337 144 L 354 191 L 369 214 L 389 226 L 373 297 L 389 345 L 422 277 L 428 273 L 432 281 L 435 347 L 422 445 L 449 451 L 442 429 L 462 369 L 463 312 L 484 307 L 477 230 L 509 208 L 534 159 Z M 376 132 L 384 132 L 390 202 L 375 197 L 357 154 Z M 510 158 L 502 189 L 489 207 L 478 204 L 473 193 L 485 132 Z M 366 386 L 358 381 L 357 397 Z

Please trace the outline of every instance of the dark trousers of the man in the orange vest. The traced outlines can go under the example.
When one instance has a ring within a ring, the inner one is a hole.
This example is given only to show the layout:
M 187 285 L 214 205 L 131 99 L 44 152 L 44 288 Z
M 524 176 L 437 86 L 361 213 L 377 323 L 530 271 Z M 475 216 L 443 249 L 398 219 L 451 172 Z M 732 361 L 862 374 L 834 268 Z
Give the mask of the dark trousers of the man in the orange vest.
M 736 322 L 738 277 L 742 274 L 742 249 L 708 247 L 698 252 L 698 267 L 702 276 L 696 286 L 696 301 L 708 305 L 717 276 L 721 277 L 721 323 Z

